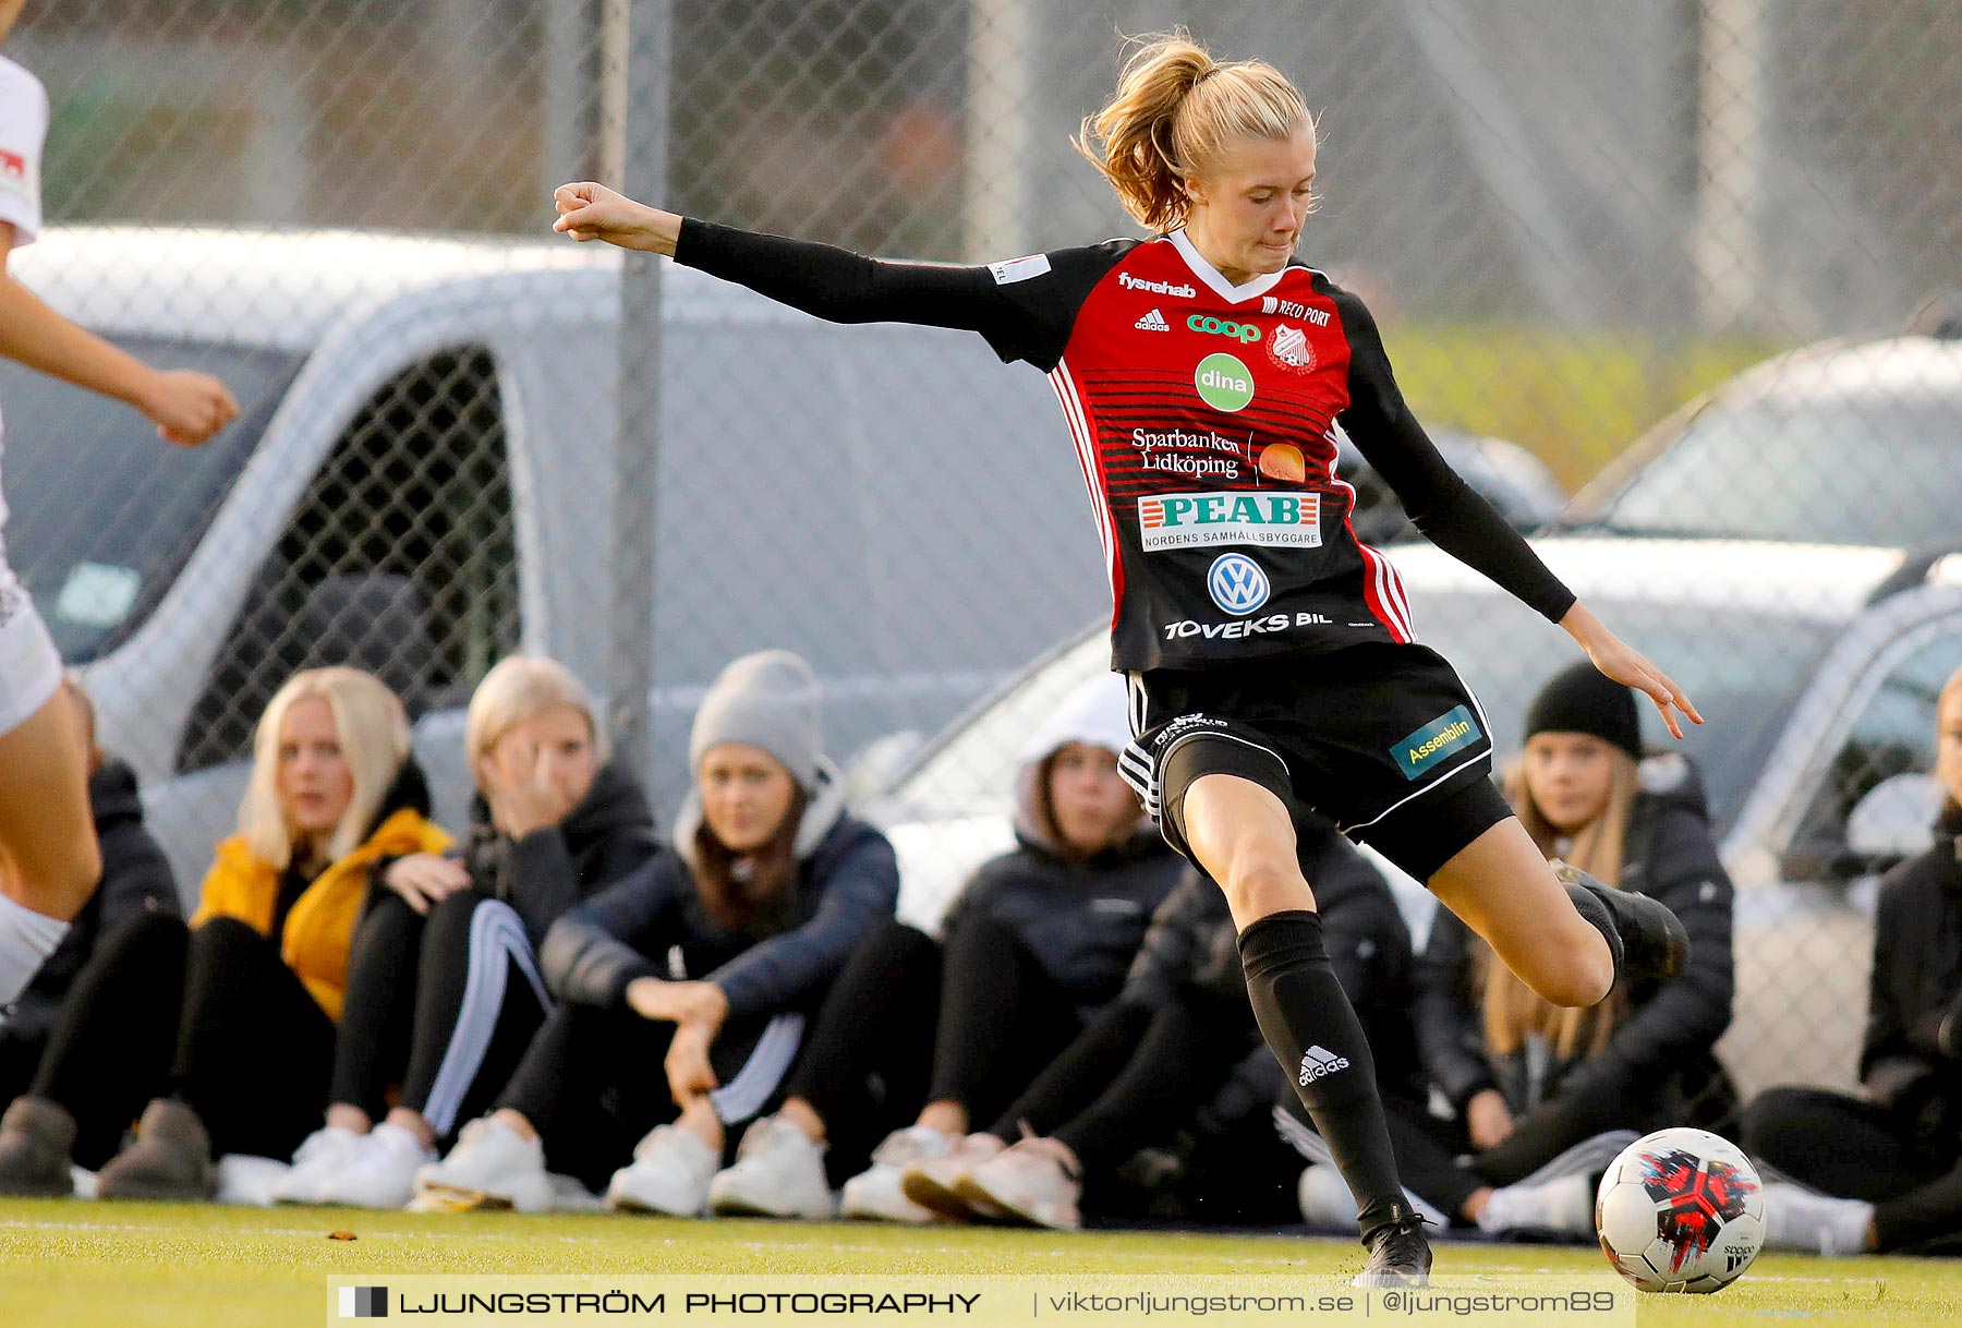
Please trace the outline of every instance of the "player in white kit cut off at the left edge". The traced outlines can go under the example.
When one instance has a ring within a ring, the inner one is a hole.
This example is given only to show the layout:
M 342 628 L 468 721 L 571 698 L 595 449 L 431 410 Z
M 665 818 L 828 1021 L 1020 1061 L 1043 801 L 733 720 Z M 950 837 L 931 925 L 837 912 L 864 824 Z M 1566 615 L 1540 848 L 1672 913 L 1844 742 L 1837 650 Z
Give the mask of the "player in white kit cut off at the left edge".
M 0 39 L 24 0 L 0 0 Z M 239 406 L 202 373 L 159 373 L 47 308 L 6 273 L 6 255 L 41 230 L 47 90 L 0 57 L 0 355 L 126 400 L 173 443 L 194 447 Z M 4 430 L 0 430 L 4 439 Z M 53 439 L 47 441 L 55 447 Z M 88 775 L 71 706 L 55 694 L 61 657 L 6 563 L 0 498 L 0 1008 L 61 944 L 102 875 Z

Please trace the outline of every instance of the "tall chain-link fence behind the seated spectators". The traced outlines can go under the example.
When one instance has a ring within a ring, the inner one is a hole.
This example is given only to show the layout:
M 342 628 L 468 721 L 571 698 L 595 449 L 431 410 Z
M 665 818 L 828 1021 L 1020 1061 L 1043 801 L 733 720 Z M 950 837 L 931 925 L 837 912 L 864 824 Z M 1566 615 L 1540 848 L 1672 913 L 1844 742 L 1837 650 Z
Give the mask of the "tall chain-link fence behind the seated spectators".
M 742 651 L 814 663 L 828 745 L 875 787 L 904 747 L 875 740 L 1091 632 L 1042 379 L 575 247 L 549 190 L 624 179 L 920 259 L 1132 233 L 1067 135 L 1118 33 L 1181 20 L 1318 110 L 1303 257 L 1369 300 L 1460 469 L 1521 526 L 1587 485 L 1548 561 L 1711 718 L 1685 749 L 1740 885 L 1730 1071 L 1848 1083 L 1874 873 L 1927 843 L 1962 665 L 1942 0 L 29 4 L 8 53 L 53 102 L 51 230 L 14 271 L 245 402 L 179 453 L 0 369 L 14 563 L 186 879 L 308 663 L 410 698 L 455 820 L 461 704 L 518 647 L 612 698 L 673 808 Z M 1407 534 L 1356 479 L 1366 537 Z M 1434 551 L 1397 561 L 1517 747 L 1572 647 Z M 1095 667 L 1063 649 L 885 802 L 916 902 L 1001 842 L 1032 716 Z

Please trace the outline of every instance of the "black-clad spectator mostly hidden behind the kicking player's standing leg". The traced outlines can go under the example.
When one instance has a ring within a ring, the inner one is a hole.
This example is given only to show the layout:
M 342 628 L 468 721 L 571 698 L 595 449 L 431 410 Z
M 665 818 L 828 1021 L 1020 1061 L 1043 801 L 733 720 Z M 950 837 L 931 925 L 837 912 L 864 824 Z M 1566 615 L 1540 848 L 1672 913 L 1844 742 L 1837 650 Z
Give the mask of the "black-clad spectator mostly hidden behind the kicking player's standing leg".
M 1413 1097 L 1420 1075 L 1409 1016 L 1411 934 L 1383 877 L 1318 816 L 1297 822 L 1301 871 L 1315 891 L 1328 957 L 1375 1049 L 1385 1097 Z M 1293 1163 L 1265 1104 L 1301 1110 L 1260 1036 L 1246 996 L 1226 894 L 1197 871 L 1160 904 L 1120 996 L 995 1120 L 1008 1148 L 957 1181 L 975 1216 L 1071 1230 L 1079 1200 L 1138 1149 L 1193 1130 L 1224 1087 L 1248 1075 L 1256 1110 L 1191 1167 L 1179 1202 L 1199 1218 L 1236 1220 L 1271 1206 Z M 1228 1163 L 1226 1157 L 1232 1161 Z M 1289 1195 L 1291 1200 L 1291 1195 Z M 1258 1220 L 1258 1218 L 1256 1218 Z

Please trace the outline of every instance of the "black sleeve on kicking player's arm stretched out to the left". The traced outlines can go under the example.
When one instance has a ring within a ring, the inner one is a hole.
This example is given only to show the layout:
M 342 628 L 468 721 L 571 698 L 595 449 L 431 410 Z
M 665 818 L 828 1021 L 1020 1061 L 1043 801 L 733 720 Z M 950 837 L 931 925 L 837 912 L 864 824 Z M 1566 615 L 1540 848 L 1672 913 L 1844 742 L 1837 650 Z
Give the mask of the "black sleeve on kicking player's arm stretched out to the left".
M 1003 361 L 1026 359 L 1048 373 L 1091 286 L 1134 243 L 1112 239 L 981 267 L 891 263 L 685 218 L 675 261 L 834 324 L 979 332 Z

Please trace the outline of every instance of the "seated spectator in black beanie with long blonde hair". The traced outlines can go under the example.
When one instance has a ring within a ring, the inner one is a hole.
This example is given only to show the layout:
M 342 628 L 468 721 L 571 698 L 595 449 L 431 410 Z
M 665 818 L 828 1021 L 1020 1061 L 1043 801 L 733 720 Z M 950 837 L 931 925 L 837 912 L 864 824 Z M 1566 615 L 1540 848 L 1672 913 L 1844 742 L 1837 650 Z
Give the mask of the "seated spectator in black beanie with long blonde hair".
M 1730 881 L 1691 767 L 1662 757 L 1644 769 L 1640 753 L 1634 692 L 1581 661 L 1528 708 L 1509 798 L 1548 857 L 1683 920 L 1681 973 L 1564 1010 L 1495 963 L 1456 916 L 1438 910 L 1430 924 L 1417 1030 L 1456 1118 L 1389 1104 L 1389 1126 L 1405 1185 L 1452 1222 L 1591 1238 L 1607 1163 L 1723 1091 L 1711 1049 L 1730 1024 Z M 1354 1222 L 1332 1167 L 1303 1173 L 1301 1206 L 1318 1226 Z

